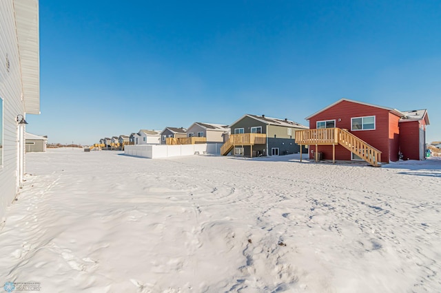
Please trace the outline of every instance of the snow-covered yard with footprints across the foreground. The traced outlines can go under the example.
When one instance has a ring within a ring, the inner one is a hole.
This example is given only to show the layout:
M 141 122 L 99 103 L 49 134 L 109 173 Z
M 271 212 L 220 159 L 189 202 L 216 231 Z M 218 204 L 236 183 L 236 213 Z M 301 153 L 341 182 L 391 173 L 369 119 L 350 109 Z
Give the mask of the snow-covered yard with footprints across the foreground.
M 0 282 L 41 292 L 441 292 L 441 160 L 28 153 Z M 3 285 L 1 283 L 1 285 Z

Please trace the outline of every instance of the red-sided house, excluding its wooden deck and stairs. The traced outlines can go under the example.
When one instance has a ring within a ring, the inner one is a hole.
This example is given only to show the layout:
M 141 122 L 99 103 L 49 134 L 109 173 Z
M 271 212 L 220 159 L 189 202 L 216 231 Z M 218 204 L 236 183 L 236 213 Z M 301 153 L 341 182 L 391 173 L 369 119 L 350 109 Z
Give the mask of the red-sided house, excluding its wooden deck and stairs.
M 426 110 L 398 111 L 342 98 L 306 120 L 309 120 L 309 129 L 342 129 L 347 135 L 355 135 L 351 144 L 358 144 L 355 141 L 357 138 L 369 144 L 380 152 L 380 162 L 397 161 L 400 153 L 403 159 L 424 160 L 425 129 L 429 124 Z M 341 136 L 335 136 L 338 135 Z M 313 159 L 316 144 L 309 144 L 309 158 Z M 348 146 L 344 147 L 342 143 L 319 143 L 317 148 L 324 160 L 366 160 L 356 155 L 356 152 L 349 151 Z M 359 151 L 364 154 L 364 151 Z

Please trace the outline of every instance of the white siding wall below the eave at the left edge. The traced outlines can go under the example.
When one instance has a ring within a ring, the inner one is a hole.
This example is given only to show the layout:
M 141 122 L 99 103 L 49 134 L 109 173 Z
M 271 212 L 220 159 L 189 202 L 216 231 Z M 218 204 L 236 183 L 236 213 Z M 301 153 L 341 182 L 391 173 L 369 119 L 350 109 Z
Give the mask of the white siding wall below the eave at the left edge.
M 0 1 L 0 97 L 3 98 L 3 165 L 0 166 L 0 219 L 17 194 L 18 128 L 16 117 L 24 114 L 12 0 Z M 10 70 L 6 68 L 6 56 Z

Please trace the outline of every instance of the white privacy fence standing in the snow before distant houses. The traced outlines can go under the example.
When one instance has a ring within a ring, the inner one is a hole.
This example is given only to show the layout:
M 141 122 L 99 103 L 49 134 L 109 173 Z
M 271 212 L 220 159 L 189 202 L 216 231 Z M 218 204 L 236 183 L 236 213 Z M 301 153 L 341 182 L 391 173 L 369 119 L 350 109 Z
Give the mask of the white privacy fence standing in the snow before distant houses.
M 157 159 L 180 157 L 183 155 L 202 155 L 205 153 L 216 154 L 220 152 L 221 144 L 137 144 L 124 146 L 126 155 Z

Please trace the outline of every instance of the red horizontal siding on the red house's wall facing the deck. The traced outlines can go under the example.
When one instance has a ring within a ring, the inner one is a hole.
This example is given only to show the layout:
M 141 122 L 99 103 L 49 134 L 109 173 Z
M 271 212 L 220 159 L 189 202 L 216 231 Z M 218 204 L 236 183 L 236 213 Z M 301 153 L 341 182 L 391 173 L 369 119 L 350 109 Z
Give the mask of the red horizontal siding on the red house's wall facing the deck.
M 351 118 L 376 116 L 376 129 L 366 131 L 351 131 Z M 398 118 L 398 117 L 397 117 Z M 322 120 L 336 120 L 336 127 L 341 129 L 348 129 L 353 135 L 356 135 L 361 140 L 364 140 L 371 146 L 382 152 L 382 162 L 389 162 L 390 158 L 390 144 L 389 141 L 389 111 L 368 105 L 358 104 L 356 102 L 349 102 L 343 100 L 325 111 L 318 113 L 309 119 L 309 128 L 316 129 L 316 122 Z M 396 121 L 398 128 L 398 120 Z M 398 137 L 396 142 L 398 146 Z M 313 158 L 311 150 L 309 151 L 310 158 Z M 319 152 L 324 153 L 325 158 L 332 158 L 332 146 L 319 146 Z M 398 153 L 398 151 L 397 151 Z M 351 160 L 351 152 L 347 151 L 342 146 L 336 146 L 336 160 Z

